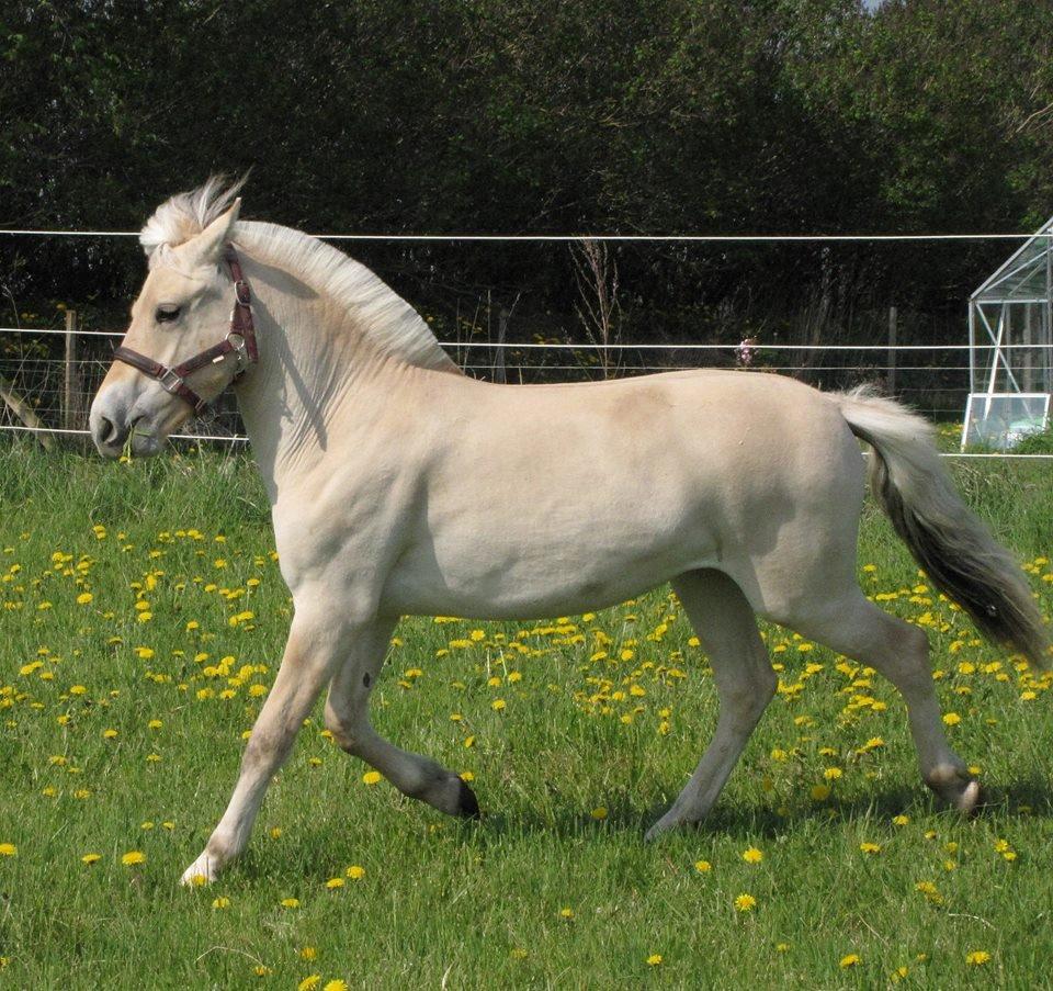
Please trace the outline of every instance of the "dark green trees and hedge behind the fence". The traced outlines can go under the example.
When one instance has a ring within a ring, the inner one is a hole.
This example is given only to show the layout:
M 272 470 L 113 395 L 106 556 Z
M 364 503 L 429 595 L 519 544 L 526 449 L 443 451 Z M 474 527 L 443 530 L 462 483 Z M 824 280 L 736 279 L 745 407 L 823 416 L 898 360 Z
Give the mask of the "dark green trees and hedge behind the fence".
M 1023 0 L 5 0 L 0 225 L 137 229 L 251 169 L 247 215 L 315 232 L 1027 230 L 1053 212 L 1051 37 Z M 14 308 L 123 309 L 141 278 L 128 241 L 0 252 Z M 513 336 L 574 311 L 551 246 L 356 254 L 437 309 L 521 296 Z M 896 304 L 902 339 L 961 340 L 1006 254 L 623 248 L 622 329 L 785 338 L 819 301 L 827 336 Z

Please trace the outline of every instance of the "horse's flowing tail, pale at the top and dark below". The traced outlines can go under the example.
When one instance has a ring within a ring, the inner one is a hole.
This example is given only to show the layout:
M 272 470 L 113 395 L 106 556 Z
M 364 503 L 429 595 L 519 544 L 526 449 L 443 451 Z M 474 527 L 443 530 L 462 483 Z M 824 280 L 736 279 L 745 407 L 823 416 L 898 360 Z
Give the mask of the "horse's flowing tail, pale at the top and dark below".
M 954 491 L 932 427 L 865 388 L 831 398 L 852 433 L 873 448 L 871 488 L 932 584 L 986 637 L 1011 645 L 1034 667 L 1049 667 L 1049 638 L 1028 579 Z

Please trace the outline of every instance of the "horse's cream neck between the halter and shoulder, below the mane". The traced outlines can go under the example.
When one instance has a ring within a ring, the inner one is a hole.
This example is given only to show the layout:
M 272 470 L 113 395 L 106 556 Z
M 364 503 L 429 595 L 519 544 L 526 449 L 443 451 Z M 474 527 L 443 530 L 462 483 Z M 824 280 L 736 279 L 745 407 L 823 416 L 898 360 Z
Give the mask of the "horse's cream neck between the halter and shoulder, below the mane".
M 283 480 L 320 463 L 333 443 L 347 450 L 356 425 L 370 417 L 350 407 L 389 395 L 399 363 L 348 325 L 347 314 L 321 296 L 290 291 L 273 270 L 248 275 L 259 363 L 237 387 L 253 455 L 273 502 Z M 389 381 L 390 380 L 390 381 Z

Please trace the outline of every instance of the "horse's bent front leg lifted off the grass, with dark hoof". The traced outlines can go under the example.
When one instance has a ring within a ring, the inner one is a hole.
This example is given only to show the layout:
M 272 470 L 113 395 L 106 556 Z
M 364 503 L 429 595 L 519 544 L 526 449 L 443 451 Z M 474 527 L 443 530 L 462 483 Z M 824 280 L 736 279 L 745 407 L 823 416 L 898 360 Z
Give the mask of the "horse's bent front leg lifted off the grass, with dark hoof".
M 399 750 L 370 722 L 369 698 L 384 664 L 396 619 L 382 619 L 359 638 L 332 676 L 326 701 L 326 727 L 349 754 L 380 770 L 399 791 L 451 815 L 475 817 L 472 789 L 452 770 L 428 757 Z

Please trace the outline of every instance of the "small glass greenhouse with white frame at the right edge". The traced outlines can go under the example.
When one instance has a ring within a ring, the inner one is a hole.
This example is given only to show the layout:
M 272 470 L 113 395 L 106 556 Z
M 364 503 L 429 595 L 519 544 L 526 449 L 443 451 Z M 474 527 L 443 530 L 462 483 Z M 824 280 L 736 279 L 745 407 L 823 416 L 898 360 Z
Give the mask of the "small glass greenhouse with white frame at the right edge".
M 963 449 L 1004 450 L 1046 427 L 1053 390 L 1051 240 L 1053 217 L 970 296 Z

